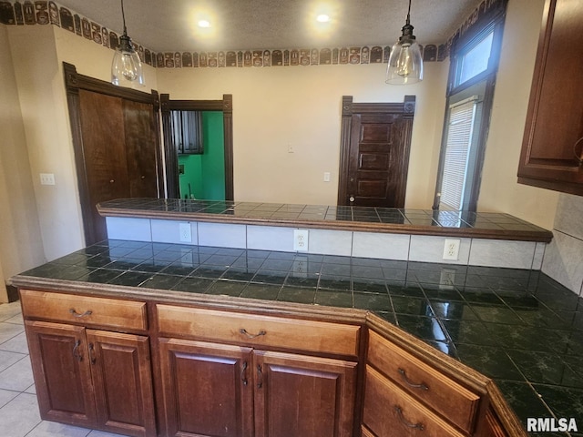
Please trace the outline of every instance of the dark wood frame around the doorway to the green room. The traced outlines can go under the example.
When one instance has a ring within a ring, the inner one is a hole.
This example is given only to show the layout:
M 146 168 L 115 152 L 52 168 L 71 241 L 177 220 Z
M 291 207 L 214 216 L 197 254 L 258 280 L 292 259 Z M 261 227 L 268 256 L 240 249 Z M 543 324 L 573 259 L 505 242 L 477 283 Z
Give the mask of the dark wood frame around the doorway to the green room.
M 170 111 L 221 111 L 225 147 L 225 200 L 232 201 L 233 190 L 233 96 L 223 94 L 221 100 L 170 100 L 169 94 L 160 94 L 160 110 L 164 129 L 164 159 L 167 198 L 179 198 L 179 156 L 172 147 Z

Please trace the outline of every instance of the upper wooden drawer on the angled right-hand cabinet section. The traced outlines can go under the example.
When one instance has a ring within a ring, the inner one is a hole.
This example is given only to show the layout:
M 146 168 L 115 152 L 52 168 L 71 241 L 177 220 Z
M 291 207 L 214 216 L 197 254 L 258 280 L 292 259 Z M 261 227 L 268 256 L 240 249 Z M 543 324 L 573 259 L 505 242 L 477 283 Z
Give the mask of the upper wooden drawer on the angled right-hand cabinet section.
M 480 397 L 443 373 L 370 331 L 368 362 L 399 387 L 423 401 L 449 422 L 470 432 Z

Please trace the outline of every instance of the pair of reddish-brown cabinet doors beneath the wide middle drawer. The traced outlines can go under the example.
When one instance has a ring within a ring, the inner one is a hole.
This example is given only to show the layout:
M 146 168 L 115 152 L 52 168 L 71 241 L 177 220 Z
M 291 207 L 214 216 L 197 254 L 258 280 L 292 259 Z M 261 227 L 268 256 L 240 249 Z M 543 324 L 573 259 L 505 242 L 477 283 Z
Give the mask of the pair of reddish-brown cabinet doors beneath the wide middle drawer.
M 356 362 L 159 341 L 167 435 L 349 437 Z

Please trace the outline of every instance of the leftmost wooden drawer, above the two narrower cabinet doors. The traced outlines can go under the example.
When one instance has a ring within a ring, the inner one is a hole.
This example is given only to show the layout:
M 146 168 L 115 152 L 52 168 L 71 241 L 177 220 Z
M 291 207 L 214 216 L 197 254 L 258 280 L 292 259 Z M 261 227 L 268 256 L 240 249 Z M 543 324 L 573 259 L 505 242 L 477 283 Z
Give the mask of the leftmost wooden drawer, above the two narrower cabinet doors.
M 25 318 L 65 321 L 84 326 L 147 330 L 146 303 L 20 290 Z

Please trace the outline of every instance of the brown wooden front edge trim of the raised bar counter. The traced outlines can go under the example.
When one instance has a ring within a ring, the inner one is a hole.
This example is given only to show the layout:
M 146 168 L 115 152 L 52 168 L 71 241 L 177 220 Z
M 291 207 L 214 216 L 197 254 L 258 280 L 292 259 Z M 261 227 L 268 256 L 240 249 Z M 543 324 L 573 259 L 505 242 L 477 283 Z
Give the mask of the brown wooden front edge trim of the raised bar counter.
M 516 241 L 534 241 L 548 243 L 553 238 L 549 230 L 514 230 L 514 229 L 476 229 L 447 228 L 438 226 L 408 225 L 394 223 L 375 223 L 366 221 L 343 220 L 306 220 L 278 219 L 260 217 L 237 217 L 221 214 L 208 214 L 186 211 L 157 211 L 148 209 L 106 208 L 97 204 L 97 212 L 102 217 L 120 217 L 132 219 L 167 219 L 184 221 L 202 221 L 209 223 L 231 223 L 240 225 L 267 225 L 306 229 L 353 230 L 379 233 L 431 235 L 440 237 L 466 237 L 476 239 L 507 239 Z

